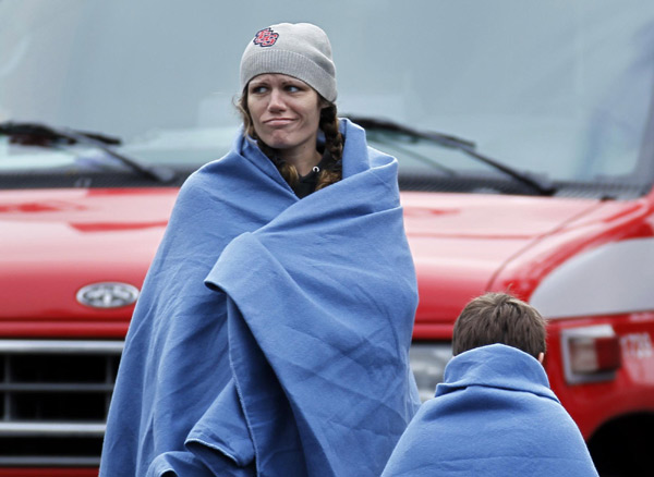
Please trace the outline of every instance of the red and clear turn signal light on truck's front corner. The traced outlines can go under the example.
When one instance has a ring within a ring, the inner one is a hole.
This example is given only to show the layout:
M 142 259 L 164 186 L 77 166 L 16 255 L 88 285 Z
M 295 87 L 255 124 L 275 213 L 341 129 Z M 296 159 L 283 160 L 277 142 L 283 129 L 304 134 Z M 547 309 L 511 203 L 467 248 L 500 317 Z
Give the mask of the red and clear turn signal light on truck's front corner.
M 565 330 L 561 340 L 566 380 L 570 384 L 615 379 L 622 356 L 619 338 L 610 325 Z

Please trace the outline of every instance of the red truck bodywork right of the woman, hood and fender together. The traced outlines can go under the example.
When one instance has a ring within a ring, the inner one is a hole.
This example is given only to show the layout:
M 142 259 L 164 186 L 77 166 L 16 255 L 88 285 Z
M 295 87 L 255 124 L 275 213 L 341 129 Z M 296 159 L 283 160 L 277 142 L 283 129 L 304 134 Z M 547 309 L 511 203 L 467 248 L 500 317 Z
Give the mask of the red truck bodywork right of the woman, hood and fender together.
M 453 319 L 472 297 L 511 290 L 530 301 L 544 278 L 571 257 L 609 243 L 652 237 L 653 203 L 652 194 L 606 201 L 404 193 L 420 288 L 414 338 L 450 340 Z M 621 337 L 622 367 L 608 381 L 569 384 L 560 333 L 596 325 L 610 325 Z M 548 334 L 552 387 L 585 438 L 615 416 L 654 411 L 653 310 L 561 317 L 549 321 Z M 644 340 L 639 346 L 629 337 Z

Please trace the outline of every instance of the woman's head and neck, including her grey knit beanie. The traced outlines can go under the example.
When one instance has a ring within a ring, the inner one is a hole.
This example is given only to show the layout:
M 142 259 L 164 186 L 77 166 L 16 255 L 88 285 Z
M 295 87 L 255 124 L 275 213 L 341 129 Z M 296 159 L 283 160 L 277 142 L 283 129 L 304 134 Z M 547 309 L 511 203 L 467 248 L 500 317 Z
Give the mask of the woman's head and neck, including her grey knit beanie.
M 302 198 L 341 176 L 336 70 L 329 40 L 317 26 L 275 28 L 257 32 L 243 53 L 239 109 L 246 135 L 257 138 Z M 311 40 L 298 41 L 304 38 Z M 318 131 L 325 136 L 324 154 L 316 148 Z

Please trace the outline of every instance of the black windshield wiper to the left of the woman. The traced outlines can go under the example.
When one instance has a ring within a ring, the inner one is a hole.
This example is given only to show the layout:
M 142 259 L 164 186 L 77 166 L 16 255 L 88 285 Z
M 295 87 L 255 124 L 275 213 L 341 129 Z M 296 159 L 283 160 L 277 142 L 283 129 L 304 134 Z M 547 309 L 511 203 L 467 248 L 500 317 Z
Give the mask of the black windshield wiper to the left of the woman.
M 177 173 L 169 168 L 148 166 L 113 150 L 110 146 L 121 144 L 117 137 L 106 136 L 99 133 L 74 131 L 64 127 L 53 127 L 40 123 L 0 123 L 0 135 L 10 136 L 16 143 L 33 146 L 51 146 L 53 143 L 65 143 L 66 145 L 82 144 L 94 147 L 118 159 L 137 173 L 167 184 L 172 182 Z

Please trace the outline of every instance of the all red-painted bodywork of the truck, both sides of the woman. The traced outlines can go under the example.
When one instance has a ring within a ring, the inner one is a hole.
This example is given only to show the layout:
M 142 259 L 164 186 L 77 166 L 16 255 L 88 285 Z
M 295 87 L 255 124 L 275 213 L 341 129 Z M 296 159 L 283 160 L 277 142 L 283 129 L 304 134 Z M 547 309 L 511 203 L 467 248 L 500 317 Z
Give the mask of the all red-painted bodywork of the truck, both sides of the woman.
M 0 192 L 0 334 L 123 339 L 133 305 L 92 309 L 76 302 L 76 292 L 101 281 L 141 288 L 177 193 L 166 187 Z M 419 276 L 416 341 L 450 341 L 459 311 L 481 293 L 510 289 L 529 301 L 544 278 L 571 257 L 603 244 L 654 235 L 654 195 L 608 201 L 403 193 L 402 203 Z M 623 338 L 621 369 L 608 381 L 568 383 L 561 331 L 604 323 Z M 545 366 L 584 437 L 613 416 L 654 412 L 654 353 L 629 338 L 653 334 L 654 310 L 550 321 Z M 0 476 L 96 472 L 3 468 Z

